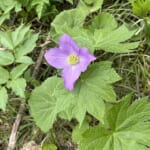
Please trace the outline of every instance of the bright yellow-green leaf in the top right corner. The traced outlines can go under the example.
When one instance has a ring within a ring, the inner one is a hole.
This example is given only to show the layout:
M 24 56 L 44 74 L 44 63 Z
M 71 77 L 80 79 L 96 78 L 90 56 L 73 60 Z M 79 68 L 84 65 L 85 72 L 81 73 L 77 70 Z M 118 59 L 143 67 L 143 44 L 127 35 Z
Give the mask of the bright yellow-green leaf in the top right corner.
M 150 13 L 150 0 L 130 0 L 133 13 L 141 18 Z

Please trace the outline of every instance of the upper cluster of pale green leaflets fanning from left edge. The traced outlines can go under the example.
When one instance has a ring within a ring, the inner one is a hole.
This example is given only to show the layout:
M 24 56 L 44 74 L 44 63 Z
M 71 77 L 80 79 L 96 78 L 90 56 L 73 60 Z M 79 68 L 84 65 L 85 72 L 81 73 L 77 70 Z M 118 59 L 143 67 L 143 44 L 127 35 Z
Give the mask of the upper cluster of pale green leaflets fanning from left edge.
M 0 51 L 0 64 L 33 63 L 27 55 L 36 46 L 38 34 L 33 34 L 30 26 L 20 25 L 15 31 L 0 31 L 0 43 L 7 51 Z

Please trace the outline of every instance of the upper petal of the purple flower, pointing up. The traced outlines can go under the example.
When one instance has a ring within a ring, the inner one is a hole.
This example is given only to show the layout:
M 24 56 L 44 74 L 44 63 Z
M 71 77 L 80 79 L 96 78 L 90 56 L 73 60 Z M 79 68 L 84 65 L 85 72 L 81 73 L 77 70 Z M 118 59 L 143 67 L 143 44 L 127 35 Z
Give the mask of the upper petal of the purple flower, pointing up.
M 67 34 L 61 36 L 59 40 L 60 49 L 66 51 L 69 54 L 78 53 L 79 47 L 76 42 Z

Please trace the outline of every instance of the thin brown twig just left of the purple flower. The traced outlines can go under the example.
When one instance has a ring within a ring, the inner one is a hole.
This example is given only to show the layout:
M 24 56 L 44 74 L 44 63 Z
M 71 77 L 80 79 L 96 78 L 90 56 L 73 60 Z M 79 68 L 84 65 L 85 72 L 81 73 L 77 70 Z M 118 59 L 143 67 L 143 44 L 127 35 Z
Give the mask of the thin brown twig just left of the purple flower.
M 45 49 L 46 49 L 46 47 L 47 47 L 47 45 L 49 43 L 50 43 L 50 35 L 48 34 L 45 43 L 40 45 L 40 47 L 42 47 L 42 50 L 41 50 L 41 52 L 39 54 L 39 57 L 37 59 L 36 65 L 35 65 L 35 68 L 33 70 L 32 78 L 36 78 L 36 76 L 37 76 L 37 74 L 39 72 L 39 68 L 40 68 L 42 60 L 43 60 Z

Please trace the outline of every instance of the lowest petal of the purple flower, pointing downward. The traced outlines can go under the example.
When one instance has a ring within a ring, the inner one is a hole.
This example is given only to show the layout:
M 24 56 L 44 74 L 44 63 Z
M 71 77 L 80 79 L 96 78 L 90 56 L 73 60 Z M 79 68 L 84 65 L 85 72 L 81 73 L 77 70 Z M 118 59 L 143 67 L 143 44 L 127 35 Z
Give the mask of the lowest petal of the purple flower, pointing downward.
M 64 68 L 62 71 L 62 78 L 64 79 L 64 85 L 66 89 L 72 91 L 76 80 L 81 74 L 81 70 L 78 65 L 72 65 Z

